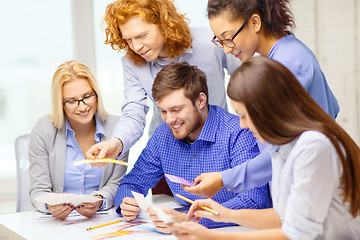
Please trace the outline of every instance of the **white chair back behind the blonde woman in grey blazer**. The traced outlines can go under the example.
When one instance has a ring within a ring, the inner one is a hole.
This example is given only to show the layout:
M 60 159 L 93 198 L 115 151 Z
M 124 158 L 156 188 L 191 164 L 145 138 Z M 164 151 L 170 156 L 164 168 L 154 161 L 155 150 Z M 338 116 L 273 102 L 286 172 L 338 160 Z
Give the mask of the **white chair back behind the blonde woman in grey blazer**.
M 17 197 L 16 212 L 34 210 L 30 201 L 29 146 L 30 134 L 15 139 Z

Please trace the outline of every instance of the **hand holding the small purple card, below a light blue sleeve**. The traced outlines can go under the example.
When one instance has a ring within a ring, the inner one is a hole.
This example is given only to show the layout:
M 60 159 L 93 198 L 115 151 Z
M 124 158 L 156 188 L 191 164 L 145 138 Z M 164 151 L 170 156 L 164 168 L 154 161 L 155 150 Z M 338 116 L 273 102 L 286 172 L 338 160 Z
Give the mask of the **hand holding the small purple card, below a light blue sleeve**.
M 193 187 L 181 187 L 189 193 L 208 198 L 215 196 L 224 187 L 220 172 L 202 173 L 195 178 L 194 184 Z

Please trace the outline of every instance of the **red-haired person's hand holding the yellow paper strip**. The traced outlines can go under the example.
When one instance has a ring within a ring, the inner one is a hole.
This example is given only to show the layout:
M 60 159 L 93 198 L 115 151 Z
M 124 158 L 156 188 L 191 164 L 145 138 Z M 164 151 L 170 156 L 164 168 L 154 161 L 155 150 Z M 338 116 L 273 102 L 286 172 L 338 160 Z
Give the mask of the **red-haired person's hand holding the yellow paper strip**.
M 87 159 L 95 158 L 115 158 L 123 150 L 123 143 L 120 139 L 114 137 L 110 140 L 99 142 L 93 145 L 85 153 Z M 93 167 L 104 167 L 108 163 L 91 163 Z

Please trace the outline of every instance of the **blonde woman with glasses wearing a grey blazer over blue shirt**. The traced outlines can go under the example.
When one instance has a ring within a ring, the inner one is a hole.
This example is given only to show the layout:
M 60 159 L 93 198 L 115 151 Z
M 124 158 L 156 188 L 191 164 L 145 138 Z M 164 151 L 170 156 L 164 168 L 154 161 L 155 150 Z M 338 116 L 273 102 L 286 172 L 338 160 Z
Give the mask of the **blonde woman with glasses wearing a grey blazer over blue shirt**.
M 64 220 L 72 211 L 91 217 L 113 206 L 126 167 L 107 164 L 75 166 L 94 144 L 111 138 L 118 116 L 105 112 L 98 84 L 88 66 L 79 61 L 61 64 L 52 80 L 52 112 L 35 124 L 29 142 L 30 197 L 41 212 Z M 127 154 L 121 160 L 127 161 Z M 49 205 L 36 198 L 44 193 L 93 195 L 95 203 Z

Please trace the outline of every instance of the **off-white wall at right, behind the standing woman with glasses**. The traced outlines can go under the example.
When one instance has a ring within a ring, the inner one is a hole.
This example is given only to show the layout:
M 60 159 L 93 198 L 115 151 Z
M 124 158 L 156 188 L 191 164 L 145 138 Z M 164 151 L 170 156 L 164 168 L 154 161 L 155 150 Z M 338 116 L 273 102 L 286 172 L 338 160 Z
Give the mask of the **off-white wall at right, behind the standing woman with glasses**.
M 295 0 L 295 34 L 317 56 L 337 97 L 337 122 L 360 143 L 360 1 Z

